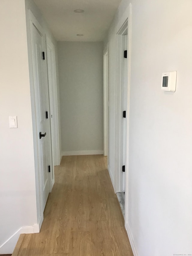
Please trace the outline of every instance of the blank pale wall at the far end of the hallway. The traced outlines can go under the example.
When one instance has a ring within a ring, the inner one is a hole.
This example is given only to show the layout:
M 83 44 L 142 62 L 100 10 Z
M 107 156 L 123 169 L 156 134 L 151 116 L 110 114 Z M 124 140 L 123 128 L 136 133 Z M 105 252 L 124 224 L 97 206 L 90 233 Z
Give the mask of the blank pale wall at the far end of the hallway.
M 58 56 L 63 154 L 102 154 L 103 43 L 58 42 Z

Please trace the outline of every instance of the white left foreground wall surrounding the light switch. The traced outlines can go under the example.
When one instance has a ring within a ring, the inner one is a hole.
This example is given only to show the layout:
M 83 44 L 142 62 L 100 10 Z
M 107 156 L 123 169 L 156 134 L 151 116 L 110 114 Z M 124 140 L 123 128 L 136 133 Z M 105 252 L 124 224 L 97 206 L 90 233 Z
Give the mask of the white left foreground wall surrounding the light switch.
M 0 1 L 0 253 L 12 253 L 23 226 L 37 223 L 24 0 Z M 18 128 L 9 128 L 9 116 Z

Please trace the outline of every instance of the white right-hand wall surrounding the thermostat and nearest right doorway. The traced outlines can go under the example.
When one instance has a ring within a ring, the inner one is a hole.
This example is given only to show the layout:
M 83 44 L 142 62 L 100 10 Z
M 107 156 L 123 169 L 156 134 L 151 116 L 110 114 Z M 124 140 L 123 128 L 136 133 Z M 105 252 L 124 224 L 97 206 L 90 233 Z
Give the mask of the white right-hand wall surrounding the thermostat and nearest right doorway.
M 110 28 L 110 167 L 115 131 L 116 29 Z M 192 2 L 132 1 L 128 220 L 134 254 L 192 254 Z M 161 74 L 177 71 L 175 93 Z M 114 176 L 115 177 L 115 176 Z

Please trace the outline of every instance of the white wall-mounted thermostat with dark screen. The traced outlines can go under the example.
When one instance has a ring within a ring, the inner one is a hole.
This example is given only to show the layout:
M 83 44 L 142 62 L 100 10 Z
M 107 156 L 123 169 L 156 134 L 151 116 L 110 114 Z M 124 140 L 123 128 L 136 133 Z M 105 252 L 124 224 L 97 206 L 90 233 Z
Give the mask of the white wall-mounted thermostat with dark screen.
M 167 91 L 167 92 L 175 92 L 176 80 L 177 80 L 177 71 L 163 73 L 162 81 L 161 81 L 161 90 Z

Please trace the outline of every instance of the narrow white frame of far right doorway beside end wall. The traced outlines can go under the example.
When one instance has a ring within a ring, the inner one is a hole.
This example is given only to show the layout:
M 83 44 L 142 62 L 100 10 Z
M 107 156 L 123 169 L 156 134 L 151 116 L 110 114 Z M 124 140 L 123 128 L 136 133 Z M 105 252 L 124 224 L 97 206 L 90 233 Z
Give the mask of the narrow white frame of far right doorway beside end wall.
M 104 72 L 104 156 L 108 156 L 108 109 L 109 109 L 109 44 L 103 51 L 103 72 Z

